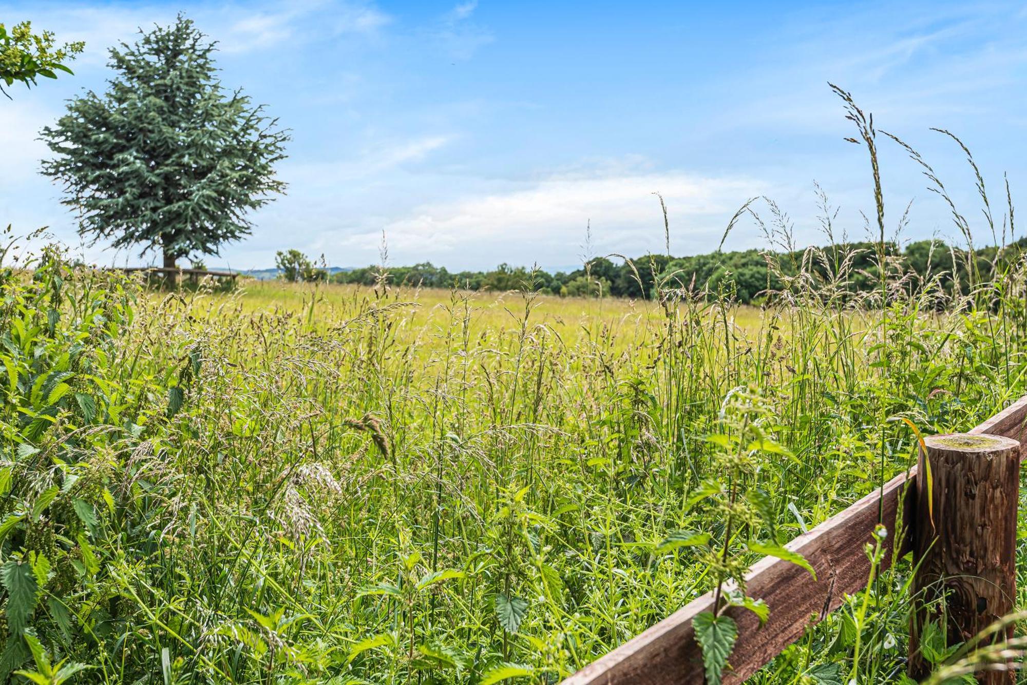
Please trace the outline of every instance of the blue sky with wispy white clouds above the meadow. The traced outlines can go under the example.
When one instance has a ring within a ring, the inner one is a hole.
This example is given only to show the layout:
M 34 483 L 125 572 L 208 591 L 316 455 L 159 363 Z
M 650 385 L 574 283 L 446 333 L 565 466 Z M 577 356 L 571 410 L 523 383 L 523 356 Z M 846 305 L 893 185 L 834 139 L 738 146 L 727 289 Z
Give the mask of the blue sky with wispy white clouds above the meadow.
M 273 264 L 277 249 L 335 266 L 431 260 L 566 268 L 584 253 L 661 250 L 661 193 L 676 254 L 714 249 L 734 210 L 766 195 L 797 242 L 823 242 L 813 182 L 866 235 L 865 151 L 832 81 L 916 147 L 989 236 L 960 151 L 973 150 L 995 206 L 1002 174 L 1027 197 L 1027 9 L 1012 3 L 3 2 L 85 40 L 75 76 L 0 100 L 0 221 L 51 233 L 103 264 L 136 252 L 80 246 L 60 191 L 38 175 L 35 139 L 63 102 L 102 89 L 106 49 L 185 11 L 221 41 L 226 86 L 293 130 L 288 195 L 254 234 L 206 263 Z M 903 238 L 956 235 L 941 200 L 881 142 L 886 220 Z M 1024 214 L 1027 215 L 1027 214 Z M 591 244 L 585 227 L 591 223 Z M 1023 235 L 1022 232 L 1018 232 Z M 752 221 L 727 247 L 759 247 Z

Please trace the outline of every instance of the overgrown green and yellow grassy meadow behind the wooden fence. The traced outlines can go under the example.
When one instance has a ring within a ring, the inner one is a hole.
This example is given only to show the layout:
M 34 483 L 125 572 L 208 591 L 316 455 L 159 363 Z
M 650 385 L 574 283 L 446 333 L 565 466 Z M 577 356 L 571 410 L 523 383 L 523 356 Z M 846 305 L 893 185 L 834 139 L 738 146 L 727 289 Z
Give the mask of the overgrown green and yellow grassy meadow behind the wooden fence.
M 756 308 L 159 292 L 48 250 L 4 272 L 0 628 L 81 682 L 557 682 L 906 469 L 897 417 L 1027 392 L 1016 264 L 885 261 L 882 307 L 842 260 Z M 752 682 L 899 680 L 907 578 Z

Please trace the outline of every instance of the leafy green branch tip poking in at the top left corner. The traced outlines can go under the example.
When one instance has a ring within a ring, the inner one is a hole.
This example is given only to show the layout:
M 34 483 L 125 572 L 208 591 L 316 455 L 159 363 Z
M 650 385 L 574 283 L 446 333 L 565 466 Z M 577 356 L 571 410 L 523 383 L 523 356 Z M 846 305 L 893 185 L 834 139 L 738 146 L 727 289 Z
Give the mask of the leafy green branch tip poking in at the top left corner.
M 0 92 L 10 95 L 3 86 L 24 83 L 28 87 L 36 85 L 36 77 L 55 79 L 56 72 L 71 74 L 65 64 L 71 62 L 85 48 L 78 41 L 54 47 L 53 33 L 44 31 L 32 33 L 32 23 L 22 22 L 10 29 L 0 24 Z

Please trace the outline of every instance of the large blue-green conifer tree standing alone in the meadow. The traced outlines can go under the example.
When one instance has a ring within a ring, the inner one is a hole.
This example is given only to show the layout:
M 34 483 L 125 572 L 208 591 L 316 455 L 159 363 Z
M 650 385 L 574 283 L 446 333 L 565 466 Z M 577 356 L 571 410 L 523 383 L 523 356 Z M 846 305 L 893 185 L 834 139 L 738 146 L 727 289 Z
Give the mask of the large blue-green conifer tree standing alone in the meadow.
M 56 155 L 43 173 L 64 185 L 81 234 L 157 250 L 174 267 L 248 235 L 248 211 L 284 190 L 273 165 L 288 133 L 221 86 L 214 51 L 180 15 L 111 48 L 107 92 L 70 100 L 43 129 Z

